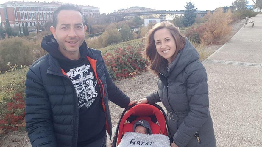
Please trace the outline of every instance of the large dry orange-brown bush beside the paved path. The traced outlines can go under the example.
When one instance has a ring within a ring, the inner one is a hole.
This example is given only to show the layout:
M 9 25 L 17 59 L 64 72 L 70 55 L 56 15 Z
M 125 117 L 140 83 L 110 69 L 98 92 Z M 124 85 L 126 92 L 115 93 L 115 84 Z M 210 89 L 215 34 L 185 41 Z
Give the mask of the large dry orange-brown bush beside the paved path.
M 222 8 L 216 9 L 213 14 L 208 12 L 205 15 L 205 19 L 207 20 L 204 23 L 205 31 L 200 35 L 201 41 L 206 45 L 224 43 L 226 41 L 224 39 L 232 30 L 230 26 L 232 22 L 231 15 L 230 10 L 224 13 Z

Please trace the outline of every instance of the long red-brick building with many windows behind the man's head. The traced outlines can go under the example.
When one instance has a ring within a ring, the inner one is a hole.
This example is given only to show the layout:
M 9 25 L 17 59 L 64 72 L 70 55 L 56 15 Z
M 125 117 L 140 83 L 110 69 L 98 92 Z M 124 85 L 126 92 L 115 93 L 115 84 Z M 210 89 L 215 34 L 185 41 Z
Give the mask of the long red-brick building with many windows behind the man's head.
M 45 24 L 52 21 L 54 10 L 61 6 L 61 2 L 23 2 L 23 1 L 8 1 L 0 4 L 1 24 L 4 27 L 5 21 L 8 19 L 10 26 L 22 26 L 27 23 L 29 27 L 36 26 L 37 21 L 40 24 Z M 93 6 L 80 6 L 86 18 L 99 17 L 99 8 Z

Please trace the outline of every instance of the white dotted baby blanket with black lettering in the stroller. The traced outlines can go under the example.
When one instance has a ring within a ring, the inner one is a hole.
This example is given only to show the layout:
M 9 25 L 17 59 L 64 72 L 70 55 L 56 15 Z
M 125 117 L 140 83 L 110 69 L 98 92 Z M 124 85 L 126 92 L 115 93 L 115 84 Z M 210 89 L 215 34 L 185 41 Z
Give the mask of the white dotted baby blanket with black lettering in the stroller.
M 118 147 L 170 147 L 169 137 L 162 134 L 126 132 Z

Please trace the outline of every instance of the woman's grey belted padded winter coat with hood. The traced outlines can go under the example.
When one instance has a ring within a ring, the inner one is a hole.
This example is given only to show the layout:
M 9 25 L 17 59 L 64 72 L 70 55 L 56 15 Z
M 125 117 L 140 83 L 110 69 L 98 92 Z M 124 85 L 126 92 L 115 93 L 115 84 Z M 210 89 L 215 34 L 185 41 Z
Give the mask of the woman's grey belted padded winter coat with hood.
M 158 91 L 147 97 L 149 103 L 162 102 L 166 121 L 179 147 L 216 147 L 208 110 L 207 74 L 199 54 L 186 38 L 185 47 L 173 62 L 162 64 Z

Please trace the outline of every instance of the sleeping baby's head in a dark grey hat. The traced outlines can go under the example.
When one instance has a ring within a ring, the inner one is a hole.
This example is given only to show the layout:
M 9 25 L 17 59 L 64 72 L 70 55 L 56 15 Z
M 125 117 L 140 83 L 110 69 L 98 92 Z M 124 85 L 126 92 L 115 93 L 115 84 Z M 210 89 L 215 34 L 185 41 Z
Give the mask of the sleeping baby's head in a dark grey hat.
M 133 131 L 141 134 L 152 134 L 152 130 L 148 121 L 141 119 L 134 123 Z

